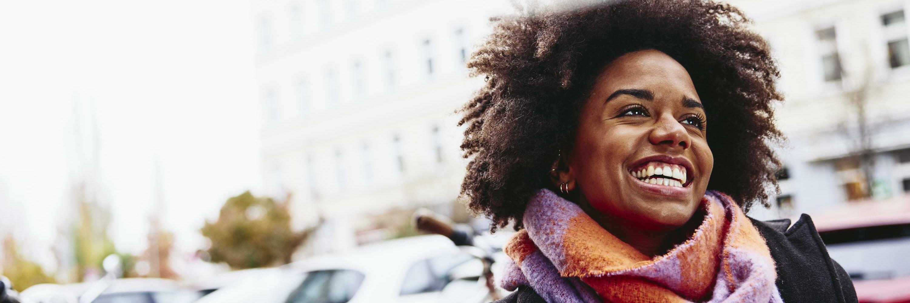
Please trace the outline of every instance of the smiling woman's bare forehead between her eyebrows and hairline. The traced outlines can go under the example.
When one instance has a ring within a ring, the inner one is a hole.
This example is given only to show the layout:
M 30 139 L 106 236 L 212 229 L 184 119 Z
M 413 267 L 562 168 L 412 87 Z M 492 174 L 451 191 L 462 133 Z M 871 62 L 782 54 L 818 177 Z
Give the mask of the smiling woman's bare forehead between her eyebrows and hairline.
M 622 88 L 648 88 L 658 96 L 682 94 L 698 98 L 685 67 L 653 49 L 634 51 L 613 60 L 598 76 L 593 91 L 610 94 Z

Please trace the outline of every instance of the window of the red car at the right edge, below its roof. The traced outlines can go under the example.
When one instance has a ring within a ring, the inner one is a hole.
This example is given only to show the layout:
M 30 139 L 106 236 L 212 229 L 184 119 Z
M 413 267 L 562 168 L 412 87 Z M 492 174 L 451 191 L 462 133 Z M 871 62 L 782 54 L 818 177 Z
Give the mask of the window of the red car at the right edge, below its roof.
M 854 280 L 910 276 L 910 224 L 820 232 L 828 254 Z

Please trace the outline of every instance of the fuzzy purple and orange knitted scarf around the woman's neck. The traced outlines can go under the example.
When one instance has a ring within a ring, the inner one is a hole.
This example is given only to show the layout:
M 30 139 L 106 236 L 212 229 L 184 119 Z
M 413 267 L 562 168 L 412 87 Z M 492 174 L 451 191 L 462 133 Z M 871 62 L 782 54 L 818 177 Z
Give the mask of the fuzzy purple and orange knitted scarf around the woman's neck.
M 554 302 L 783 302 L 771 253 L 733 199 L 709 191 L 688 240 L 648 258 L 550 190 L 531 198 L 505 247 L 502 288 Z

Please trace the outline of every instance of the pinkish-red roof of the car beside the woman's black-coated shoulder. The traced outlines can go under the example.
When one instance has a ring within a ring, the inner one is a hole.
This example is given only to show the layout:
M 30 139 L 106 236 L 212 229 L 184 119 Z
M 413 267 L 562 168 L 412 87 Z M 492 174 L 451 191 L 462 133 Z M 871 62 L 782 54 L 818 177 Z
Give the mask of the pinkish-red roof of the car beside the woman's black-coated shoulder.
M 864 200 L 831 207 L 812 216 L 819 232 L 896 224 L 910 224 L 910 195 Z

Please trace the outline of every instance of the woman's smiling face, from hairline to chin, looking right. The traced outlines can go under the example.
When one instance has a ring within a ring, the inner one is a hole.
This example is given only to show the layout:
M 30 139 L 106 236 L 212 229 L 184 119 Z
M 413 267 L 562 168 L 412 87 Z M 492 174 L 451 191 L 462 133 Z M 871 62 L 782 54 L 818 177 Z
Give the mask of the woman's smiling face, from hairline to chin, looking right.
M 682 226 L 713 168 L 705 126 L 692 78 L 676 60 L 650 49 L 620 56 L 581 110 L 568 157 L 572 194 L 634 227 Z

